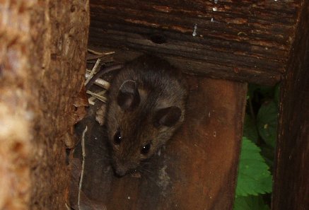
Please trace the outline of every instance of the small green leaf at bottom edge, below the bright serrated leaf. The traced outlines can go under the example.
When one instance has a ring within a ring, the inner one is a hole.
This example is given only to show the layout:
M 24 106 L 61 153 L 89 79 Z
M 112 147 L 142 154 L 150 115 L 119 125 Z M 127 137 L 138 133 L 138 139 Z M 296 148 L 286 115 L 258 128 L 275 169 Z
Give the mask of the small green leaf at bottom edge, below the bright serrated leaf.
M 269 210 L 260 196 L 237 197 L 233 210 Z

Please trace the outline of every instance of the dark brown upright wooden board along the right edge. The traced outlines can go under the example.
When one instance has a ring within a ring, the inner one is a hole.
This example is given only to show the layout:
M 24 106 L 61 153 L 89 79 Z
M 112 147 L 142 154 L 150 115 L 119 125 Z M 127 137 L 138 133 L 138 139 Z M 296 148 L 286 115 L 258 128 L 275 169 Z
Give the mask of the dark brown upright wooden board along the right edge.
M 281 85 L 272 209 L 309 209 L 309 2 Z

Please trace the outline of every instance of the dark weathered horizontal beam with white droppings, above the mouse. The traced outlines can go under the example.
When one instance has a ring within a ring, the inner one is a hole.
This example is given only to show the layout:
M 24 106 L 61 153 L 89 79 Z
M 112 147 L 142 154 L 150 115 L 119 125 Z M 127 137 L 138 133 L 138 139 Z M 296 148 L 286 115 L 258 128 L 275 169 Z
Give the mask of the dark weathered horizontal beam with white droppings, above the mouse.
M 163 54 L 191 74 L 274 84 L 285 69 L 299 4 L 91 1 L 90 45 Z M 185 69 L 187 60 L 199 65 Z

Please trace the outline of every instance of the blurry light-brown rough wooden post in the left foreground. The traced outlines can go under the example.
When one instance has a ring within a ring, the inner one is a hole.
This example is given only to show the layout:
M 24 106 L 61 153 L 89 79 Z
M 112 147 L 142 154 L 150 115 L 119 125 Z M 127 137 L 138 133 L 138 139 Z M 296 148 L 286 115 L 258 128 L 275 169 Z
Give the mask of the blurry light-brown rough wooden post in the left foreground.
M 88 22 L 88 0 L 0 1 L 0 209 L 65 209 Z

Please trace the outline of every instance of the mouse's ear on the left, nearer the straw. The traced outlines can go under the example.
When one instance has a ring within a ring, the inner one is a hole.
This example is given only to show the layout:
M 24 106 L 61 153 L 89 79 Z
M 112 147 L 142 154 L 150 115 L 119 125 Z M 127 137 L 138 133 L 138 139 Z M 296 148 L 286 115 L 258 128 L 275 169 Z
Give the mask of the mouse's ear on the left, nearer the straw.
M 136 82 L 132 80 L 124 81 L 119 88 L 117 103 L 123 110 L 131 111 L 139 105 L 140 97 Z

